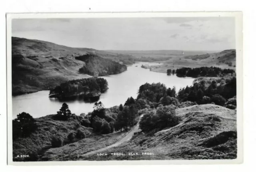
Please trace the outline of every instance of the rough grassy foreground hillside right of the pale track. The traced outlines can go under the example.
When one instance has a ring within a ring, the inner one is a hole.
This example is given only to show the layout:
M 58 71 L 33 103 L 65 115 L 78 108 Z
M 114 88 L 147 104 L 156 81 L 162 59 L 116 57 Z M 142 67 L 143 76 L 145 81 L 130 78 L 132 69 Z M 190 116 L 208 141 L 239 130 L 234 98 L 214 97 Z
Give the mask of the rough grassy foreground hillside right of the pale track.
M 123 152 L 124 156 L 92 155 L 79 160 L 172 160 L 236 158 L 236 111 L 206 104 L 176 110 L 182 121 L 156 133 L 134 135 L 130 142 L 102 153 Z M 224 133 L 222 133 L 224 132 Z M 224 136 L 225 139 L 220 139 Z M 220 142 L 218 142 L 220 141 Z M 129 156 L 129 152 L 139 155 Z M 155 155 L 143 156 L 142 152 Z

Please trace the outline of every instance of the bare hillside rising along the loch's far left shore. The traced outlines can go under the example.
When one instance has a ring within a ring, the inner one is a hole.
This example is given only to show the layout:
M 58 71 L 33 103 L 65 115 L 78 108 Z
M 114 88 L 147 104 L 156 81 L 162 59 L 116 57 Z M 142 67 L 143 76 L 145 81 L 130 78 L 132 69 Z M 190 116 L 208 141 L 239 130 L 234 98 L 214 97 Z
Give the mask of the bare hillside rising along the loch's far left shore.
M 12 37 L 12 95 L 48 90 L 68 80 L 89 77 L 78 72 L 84 62 L 77 60 L 77 56 L 94 54 L 101 60 L 114 56 L 96 51 Z M 120 58 L 113 60 L 120 63 L 128 59 L 126 55 L 116 57 Z

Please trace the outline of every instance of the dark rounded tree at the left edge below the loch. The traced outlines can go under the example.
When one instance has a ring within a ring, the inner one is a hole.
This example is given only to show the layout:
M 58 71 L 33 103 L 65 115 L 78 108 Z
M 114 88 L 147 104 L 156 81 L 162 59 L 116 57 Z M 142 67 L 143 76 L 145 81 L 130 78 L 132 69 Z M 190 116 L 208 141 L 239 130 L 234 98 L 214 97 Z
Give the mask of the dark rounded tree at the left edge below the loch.
M 28 113 L 22 112 L 12 120 L 12 139 L 28 137 L 38 128 L 36 120 Z

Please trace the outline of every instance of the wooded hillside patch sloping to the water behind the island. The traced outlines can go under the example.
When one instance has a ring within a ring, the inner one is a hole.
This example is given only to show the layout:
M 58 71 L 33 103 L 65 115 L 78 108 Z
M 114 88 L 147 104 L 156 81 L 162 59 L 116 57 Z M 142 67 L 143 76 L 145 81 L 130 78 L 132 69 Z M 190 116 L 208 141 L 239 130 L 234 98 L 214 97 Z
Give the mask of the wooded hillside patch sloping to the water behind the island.
M 113 60 L 99 57 L 95 54 L 77 56 L 76 59 L 85 62 L 84 66 L 82 66 L 78 71 L 82 74 L 88 74 L 91 76 L 119 74 L 127 70 L 127 66 L 125 64 L 120 64 Z

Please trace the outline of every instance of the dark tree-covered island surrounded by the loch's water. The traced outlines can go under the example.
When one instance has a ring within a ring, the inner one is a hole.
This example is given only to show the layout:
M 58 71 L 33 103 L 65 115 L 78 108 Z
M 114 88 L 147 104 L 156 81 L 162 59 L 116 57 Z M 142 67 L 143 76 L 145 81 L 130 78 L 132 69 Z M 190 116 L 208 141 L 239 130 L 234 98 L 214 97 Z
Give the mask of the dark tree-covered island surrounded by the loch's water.
M 64 82 L 50 90 L 50 98 L 70 100 L 83 98 L 85 101 L 95 101 L 100 94 L 108 89 L 108 82 L 104 78 L 92 77 Z

